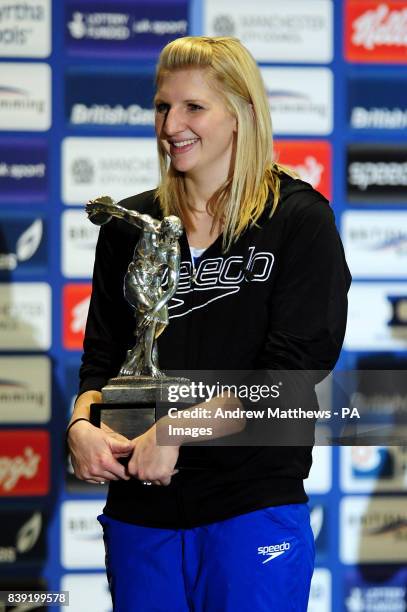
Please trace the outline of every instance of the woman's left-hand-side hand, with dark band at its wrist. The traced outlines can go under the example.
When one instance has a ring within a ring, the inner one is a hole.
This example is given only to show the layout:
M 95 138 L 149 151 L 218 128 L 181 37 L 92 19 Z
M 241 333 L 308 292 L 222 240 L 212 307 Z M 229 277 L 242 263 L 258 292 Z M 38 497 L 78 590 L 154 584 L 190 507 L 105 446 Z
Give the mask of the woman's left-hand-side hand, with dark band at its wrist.
M 126 468 L 118 461 L 133 449 L 133 443 L 124 436 L 79 421 L 69 430 L 68 445 L 77 478 L 95 483 L 129 480 Z

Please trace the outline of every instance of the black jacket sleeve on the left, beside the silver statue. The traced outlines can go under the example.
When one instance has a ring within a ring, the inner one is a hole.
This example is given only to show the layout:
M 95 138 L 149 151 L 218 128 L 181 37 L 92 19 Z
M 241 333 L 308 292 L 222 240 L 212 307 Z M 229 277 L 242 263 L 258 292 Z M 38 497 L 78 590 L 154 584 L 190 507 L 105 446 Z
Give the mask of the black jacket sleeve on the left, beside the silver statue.
M 132 256 L 128 237 L 116 220 L 100 228 L 92 280 L 92 296 L 79 371 L 79 394 L 100 390 L 117 376 L 135 327 L 123 296 L 123 279 Z M 134 241 L 133 241 L 134 242 Z

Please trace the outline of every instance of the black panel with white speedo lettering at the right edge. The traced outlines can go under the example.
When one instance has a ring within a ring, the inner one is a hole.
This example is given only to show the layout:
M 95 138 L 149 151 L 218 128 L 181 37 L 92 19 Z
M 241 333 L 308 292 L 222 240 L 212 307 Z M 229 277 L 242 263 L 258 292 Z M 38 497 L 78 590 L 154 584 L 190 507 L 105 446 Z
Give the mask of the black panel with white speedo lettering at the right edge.
M 351 202 L 407 202 L 407 147 L 349 145 L 347 186 Z

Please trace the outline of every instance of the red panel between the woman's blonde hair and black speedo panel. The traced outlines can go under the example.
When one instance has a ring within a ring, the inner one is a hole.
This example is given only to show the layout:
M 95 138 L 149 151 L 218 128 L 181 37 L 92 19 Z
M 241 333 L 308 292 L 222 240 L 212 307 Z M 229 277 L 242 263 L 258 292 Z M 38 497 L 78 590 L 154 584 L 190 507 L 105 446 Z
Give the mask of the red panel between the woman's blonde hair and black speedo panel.
M 331 145 L 327 140 L 276 140 L 276 161 L 289 166 L 328 200 L 331 197 Z

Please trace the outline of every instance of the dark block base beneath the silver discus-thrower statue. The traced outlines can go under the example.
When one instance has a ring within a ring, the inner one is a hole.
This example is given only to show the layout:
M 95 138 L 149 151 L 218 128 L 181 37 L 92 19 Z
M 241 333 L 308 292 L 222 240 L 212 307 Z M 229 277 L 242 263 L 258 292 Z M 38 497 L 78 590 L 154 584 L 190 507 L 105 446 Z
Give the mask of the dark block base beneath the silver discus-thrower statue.
M 157 402 L 166 401 L 169 387 L 189 384 L 187 378 L 117 376 L 102 389 L 102 402 L 90 407 L 90 422 L 104 425 L 129 440 L 145 433 L 157 420 Z

